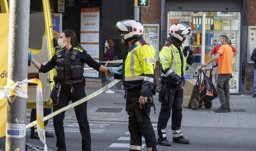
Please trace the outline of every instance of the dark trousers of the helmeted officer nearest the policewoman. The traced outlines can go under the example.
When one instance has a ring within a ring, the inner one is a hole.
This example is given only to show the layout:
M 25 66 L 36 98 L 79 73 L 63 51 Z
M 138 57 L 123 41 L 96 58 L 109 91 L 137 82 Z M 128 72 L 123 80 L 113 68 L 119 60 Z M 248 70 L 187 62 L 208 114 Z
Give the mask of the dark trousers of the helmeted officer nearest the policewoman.
M 126 111 L 129 115 L 130 151 L 141 151 L 142 136 L 145 138 L 148 151 L 157 151 L 155 131 L 149 118 L 151 107 L 135 109 L 132 105 L 132 99 L 140 98 L 140 92 L 141 87 L 127 90 Z M 151 91 L 149 95 L 152 97 Z

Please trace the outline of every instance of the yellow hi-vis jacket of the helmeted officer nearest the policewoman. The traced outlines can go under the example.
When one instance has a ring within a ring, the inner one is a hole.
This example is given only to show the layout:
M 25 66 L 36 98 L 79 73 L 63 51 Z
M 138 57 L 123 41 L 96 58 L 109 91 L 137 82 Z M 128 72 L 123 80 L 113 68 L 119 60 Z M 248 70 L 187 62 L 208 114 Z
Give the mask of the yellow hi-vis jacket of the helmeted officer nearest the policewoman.
M 142 87 L 141 96 L 148 96 L 155 80 L 155 50 L 143 38 L 137 38 L 124 53 L 122 75 L 115 74 L 116 79 L 122 79 L 124 90 L 137 86 Z

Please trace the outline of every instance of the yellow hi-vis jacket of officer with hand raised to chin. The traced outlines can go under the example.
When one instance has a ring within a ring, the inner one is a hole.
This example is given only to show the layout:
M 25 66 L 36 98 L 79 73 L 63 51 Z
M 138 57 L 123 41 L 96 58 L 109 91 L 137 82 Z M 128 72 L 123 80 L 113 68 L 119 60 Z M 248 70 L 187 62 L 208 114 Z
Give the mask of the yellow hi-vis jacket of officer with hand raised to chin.
M 184 56 L 183 47 L 178 49 L 174 44 L 168 42 L 159 53 L 161 63 L 161 77 L 163 81 L 173 83 L 178 78 L 183 78 L 187 67 L 187 58 Z

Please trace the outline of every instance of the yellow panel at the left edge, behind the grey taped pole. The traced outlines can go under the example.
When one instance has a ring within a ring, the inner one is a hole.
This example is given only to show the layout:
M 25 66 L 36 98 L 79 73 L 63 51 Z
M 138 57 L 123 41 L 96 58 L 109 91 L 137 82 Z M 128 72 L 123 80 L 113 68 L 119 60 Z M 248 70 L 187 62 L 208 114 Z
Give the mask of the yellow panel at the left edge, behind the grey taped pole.
M 0 20 L 4 21 L 0 24 L 0 34 L 2 38 L 0 40 L 0 86 L 7 84 L 7 69 L 8 69 L 8 33 L 9 33 L 9 14 L 0 14 Z M 7 113 L 7 97 L 0 101 L 0 137 L 6 134 L 6 113 Z

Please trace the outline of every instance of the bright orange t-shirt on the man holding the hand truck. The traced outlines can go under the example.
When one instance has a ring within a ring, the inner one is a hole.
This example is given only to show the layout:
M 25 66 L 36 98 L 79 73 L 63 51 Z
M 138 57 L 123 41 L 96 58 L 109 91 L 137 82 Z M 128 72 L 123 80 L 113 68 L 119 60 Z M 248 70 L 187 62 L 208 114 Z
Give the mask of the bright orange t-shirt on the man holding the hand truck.
M 229 45 L 222 45 L 218 51 L 219 56 L 218 73 L 232 74 L 233 51 Z

